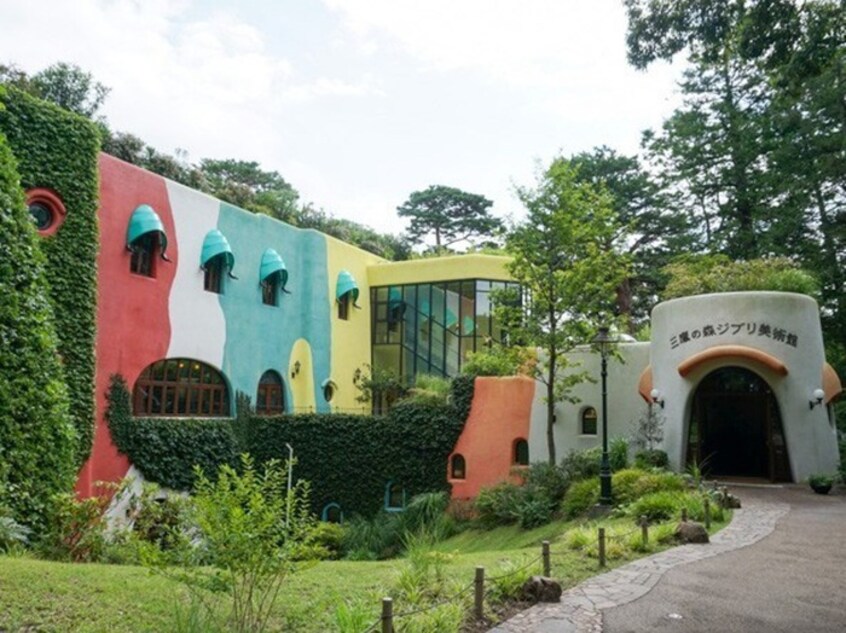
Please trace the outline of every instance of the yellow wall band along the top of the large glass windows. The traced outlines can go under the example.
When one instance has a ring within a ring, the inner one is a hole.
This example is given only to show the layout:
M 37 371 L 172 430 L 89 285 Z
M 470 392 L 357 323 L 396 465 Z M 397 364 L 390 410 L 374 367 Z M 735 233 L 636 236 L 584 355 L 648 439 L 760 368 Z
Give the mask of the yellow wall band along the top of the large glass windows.
M 415 284 L 457 279 L 497 279 L 508 281 L 511 276 L 505 265 L 509 257 L 498 255 L 454 255 L 431 259 L 412 259 L 407 262 L 380 261 L 367 269 L 371 286 Z M 356 277 L 358 279 L 358 277 Z

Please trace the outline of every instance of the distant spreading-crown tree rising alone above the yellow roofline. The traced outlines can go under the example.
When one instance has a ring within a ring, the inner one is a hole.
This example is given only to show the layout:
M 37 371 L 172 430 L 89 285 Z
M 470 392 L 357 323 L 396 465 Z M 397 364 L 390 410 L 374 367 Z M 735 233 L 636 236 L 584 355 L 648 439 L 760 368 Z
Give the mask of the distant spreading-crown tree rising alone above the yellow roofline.
M 490 215 L 493 202 L 482 195 L 467 193 L 455 187 L 432 185 L 413 192 L 397 207 L 401 218 L 410 218 L 410 240 L 424 244 L 434 239 L 434 250 L 443 251 L 460 242 L 490 238 L 502 222 Z

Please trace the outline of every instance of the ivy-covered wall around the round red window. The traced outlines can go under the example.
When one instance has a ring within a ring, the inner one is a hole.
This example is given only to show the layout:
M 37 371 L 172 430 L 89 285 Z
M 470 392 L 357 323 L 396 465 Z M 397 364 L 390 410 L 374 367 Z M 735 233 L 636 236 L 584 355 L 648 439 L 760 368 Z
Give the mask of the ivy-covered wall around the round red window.
M 41 240 L 59 337 L 59 354 L 79 435 L 76 464 L 94 437 L 94 337 L 97 302 L 97 156 L 94 125 L 58 106 L 9 88 L 0 96 L 0 132 L 18 161 L 24 189 L 47 187 L 64 202 L 59 231 Z

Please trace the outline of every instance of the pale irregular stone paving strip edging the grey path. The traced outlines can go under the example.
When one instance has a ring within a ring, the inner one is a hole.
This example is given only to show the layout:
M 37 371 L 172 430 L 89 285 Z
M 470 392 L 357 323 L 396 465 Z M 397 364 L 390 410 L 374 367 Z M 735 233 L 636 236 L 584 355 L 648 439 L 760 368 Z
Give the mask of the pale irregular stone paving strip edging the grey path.
M 594 576 L 565 591 L 561 602 L 538 604 L 492 631 L 496 633 L 602 633 L 602 610 L 645 596 L 673 567 L 747 547 L 772 533 L 787 503 L 744 502 L 731 523 L 704 545 L 681 545 Z

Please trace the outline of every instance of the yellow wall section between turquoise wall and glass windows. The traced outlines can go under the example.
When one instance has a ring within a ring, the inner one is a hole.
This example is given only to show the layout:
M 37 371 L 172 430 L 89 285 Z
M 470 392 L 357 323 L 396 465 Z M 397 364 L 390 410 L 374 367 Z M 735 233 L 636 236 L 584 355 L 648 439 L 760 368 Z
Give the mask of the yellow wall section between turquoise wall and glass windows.
M 330 298 L 327 309 L 332 324 L 332 375 L 327 378 L 338 386 L 331 402 L 332 410 L 370 413 L 369 404 L 356 401 L 360 392 L 353 384 L 353 374 L 356 369 L 370 364 L 370 284 L 367 270 L 385 260 L 332 237 L 326 238 L 326 259 Z M 361 309 L 350 306 L 346 321 L 338 318 L 335 301 L 335 284 L 341 270 L 352 274 L 360 291 L 358 305 Z M 321 378 L 317 384 L 322 381 Z

